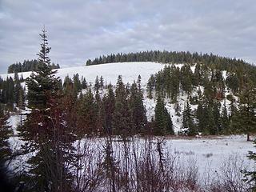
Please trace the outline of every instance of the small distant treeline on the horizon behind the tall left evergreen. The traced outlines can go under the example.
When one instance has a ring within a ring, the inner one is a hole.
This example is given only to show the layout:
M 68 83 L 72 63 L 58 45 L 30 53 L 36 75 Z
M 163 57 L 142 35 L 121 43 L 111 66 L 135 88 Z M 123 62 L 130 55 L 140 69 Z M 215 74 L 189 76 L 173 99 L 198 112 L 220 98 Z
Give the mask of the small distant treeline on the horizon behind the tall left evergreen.
M 59 69 L 59 64 L 52 63 L 52 69 Z M 38 69 L 38 60 L 32 59 L 32 60 L 24 60 L 23 63 L 16 62 L 8 67 L 8 74 L 13 74 L 15 72 L 26 72 L 31 70 L 37 70 Z

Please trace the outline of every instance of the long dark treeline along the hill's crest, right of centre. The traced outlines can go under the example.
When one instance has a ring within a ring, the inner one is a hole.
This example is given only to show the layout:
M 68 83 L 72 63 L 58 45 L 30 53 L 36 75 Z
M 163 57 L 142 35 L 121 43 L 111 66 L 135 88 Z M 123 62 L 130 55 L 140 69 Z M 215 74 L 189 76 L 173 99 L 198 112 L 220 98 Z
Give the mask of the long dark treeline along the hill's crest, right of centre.
M 230 72 L 239 74 L 249 74 L 254 76 L 256 74 L 256 67 L 237 58 L 226 58 L 214 54 L 198 54 L 194 52 L 193 54 L 186 51 L 160 51 L 160 50 L 150 50 L 142 51 L 138 53 L 129 54 L 109 54 L 102 55 L 99 58 L 94 58 L 93 60 L 88 60 L 86 66 L 98 65 L 110 62 L 162 62 L 162 63 L 183 63 L 183 64 L 194 64 L 203 63 L 210 68 L 217 70 L 228 70 Z M 256 82 L 256 77 L 254 77 L 254 82 Z

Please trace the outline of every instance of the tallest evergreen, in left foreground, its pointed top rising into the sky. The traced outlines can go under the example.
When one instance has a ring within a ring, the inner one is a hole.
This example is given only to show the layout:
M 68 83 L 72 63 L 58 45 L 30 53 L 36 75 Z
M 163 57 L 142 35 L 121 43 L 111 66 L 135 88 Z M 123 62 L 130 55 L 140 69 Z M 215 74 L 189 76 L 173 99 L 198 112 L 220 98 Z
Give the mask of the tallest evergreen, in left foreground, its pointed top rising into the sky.
M 74 142 L 72 130 L 66 123 L 66 106 L 62 107 L 61 82 L 50 68 L 50 47 L 46 30 L 42 30 L 41 50 L 38 54 L 38 70 L 27 78 L 28 102 L 32 108 L 26 121 L 19 128 L 25 141 L 25 153 L 37 151 L 28 160 L 31 169 L 27 175 L 34 182 L 26 187 L 37 191 L 70 191 L 70 176 L 67 170 L 72 161 Z

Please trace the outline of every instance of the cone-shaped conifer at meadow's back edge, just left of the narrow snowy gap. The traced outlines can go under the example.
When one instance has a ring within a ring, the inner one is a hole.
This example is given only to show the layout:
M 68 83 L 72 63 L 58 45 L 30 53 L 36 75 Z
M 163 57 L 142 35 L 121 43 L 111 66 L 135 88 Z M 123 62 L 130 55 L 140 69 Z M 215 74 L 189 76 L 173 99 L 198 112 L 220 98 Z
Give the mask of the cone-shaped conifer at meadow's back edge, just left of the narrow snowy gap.
M 156 134 L 156 135 L 174 134 L 173 124 L 171 121 L 170 114 L 166 110 L 165 104 L 161 96 L 158 96 L 154 113 L 155 114 L 154 114 L 153 134 Z

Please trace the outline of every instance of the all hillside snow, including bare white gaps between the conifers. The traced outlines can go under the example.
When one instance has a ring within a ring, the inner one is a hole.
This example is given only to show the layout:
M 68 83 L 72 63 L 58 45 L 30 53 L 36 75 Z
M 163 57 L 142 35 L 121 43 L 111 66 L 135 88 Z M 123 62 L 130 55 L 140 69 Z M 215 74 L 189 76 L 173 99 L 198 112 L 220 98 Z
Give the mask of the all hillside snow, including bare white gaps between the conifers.
M 148 79 L 150 78 L 151 74 L 156 74 L 159 70 L 162 70 L 166 64 L 157 63 L 157 62 L 114 62 L 114 63 L 107 63 L 95 66 L 78 66 L 78 67 L 69 67 L 58 69 L 56 76 L 64 81 L 66 76 L 73 78 L 74 74 L 79 74 L 79 77 L 86 78 L 86 82 L 89 85 L 94 85 L 95 78 L 98 76 L 102 76 L 104 78 L 105 84 L 112 84 L 115 85 L 117 82 L 118 75 L 122 75 L 122 81 L 124 83 L 132 83 L 137 80 L 138 75 L 142 77 L 142 90 L 144 92 L 144 104 L 146 106 L 146 116 L 148 120 L 154 117 L 154 108 L 156 105 L 156 98 L 149 99 L 146 97 L 146 84 Z M 175 64 L 181 68 L 183 64 Z M 191 70 L 194 72 L 194 66 L 191 66 Z M 23 72 L 19 73 L 19 76 L 23 76 L 23 78 L 29 77 L 31 72 Z M 226 78 L 226 71 L 222 72 L 223 77 Z M 14 74 L 0 74 L 2 78 L 14 77 Z M 25 83 L 23 82 L 23 85 Z M 197 88 L 196 88 L 197 89 Z M 200 87 L 203 90 L 203 87 Z M 105 91 L 103 91 L 104 93 Z M 194 92 L 194 94 L 196 94 Z M 226 91 L 226 94 L 229 94 Z M 186 102 L 187 95 L 179 95 L 178 96 L 178 103 L 181 107 L 181 110 L 184 108 L 184 104 Z M 172 117 L 172 122 L 174 124 L 174 131 L 178 133 L 182 126 L 182 118 L 175 115 L 174 111 L 174 104 L 170 104 L 170 101 L 166 99 L 166 109 L 170 113 Z M 223 102 L 222 102 L 223 104 Z M 226 104 L 229 104 L 227 101 Z M 191 105 L 192 110 L 197 108 L 197 105 Z

